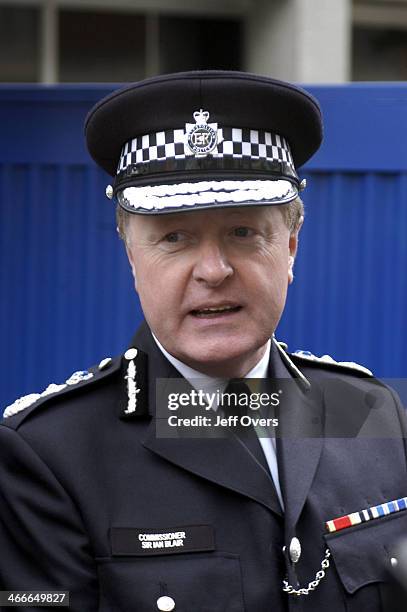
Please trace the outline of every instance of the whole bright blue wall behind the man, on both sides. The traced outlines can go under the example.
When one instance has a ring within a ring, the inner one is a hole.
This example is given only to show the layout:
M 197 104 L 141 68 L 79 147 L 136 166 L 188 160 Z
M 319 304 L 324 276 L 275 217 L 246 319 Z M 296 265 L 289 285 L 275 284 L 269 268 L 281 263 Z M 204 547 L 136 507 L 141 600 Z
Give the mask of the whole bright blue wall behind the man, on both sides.
M 120 352 L 141 320 L 109 179 L 83 143 L 87 110 L 112 89 L 0 87 L 1 405 Z M 309 89 L 326 139 L 302 173 L 306 222 L 277 335 L 404 377 L 407 85 Z

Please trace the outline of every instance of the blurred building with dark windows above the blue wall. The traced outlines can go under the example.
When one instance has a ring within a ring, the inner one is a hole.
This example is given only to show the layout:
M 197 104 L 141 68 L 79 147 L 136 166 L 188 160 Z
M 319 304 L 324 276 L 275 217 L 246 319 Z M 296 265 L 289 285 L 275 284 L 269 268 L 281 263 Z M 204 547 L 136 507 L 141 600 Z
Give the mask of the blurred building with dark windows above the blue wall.
M 407 79 L 407 0 L 0 0 L 0 82 Z

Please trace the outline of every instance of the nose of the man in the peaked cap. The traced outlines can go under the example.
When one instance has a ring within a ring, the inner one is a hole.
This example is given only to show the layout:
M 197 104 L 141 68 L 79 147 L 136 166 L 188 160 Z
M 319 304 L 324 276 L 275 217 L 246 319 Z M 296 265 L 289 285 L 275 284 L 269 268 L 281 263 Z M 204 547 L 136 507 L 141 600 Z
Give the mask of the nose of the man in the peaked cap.
M 227 258 L 225 249 L 218 242 L 206 241 L 197 252 L 193 278 L 210 287 L 217 287 L 232 276 L 233 267 Z

